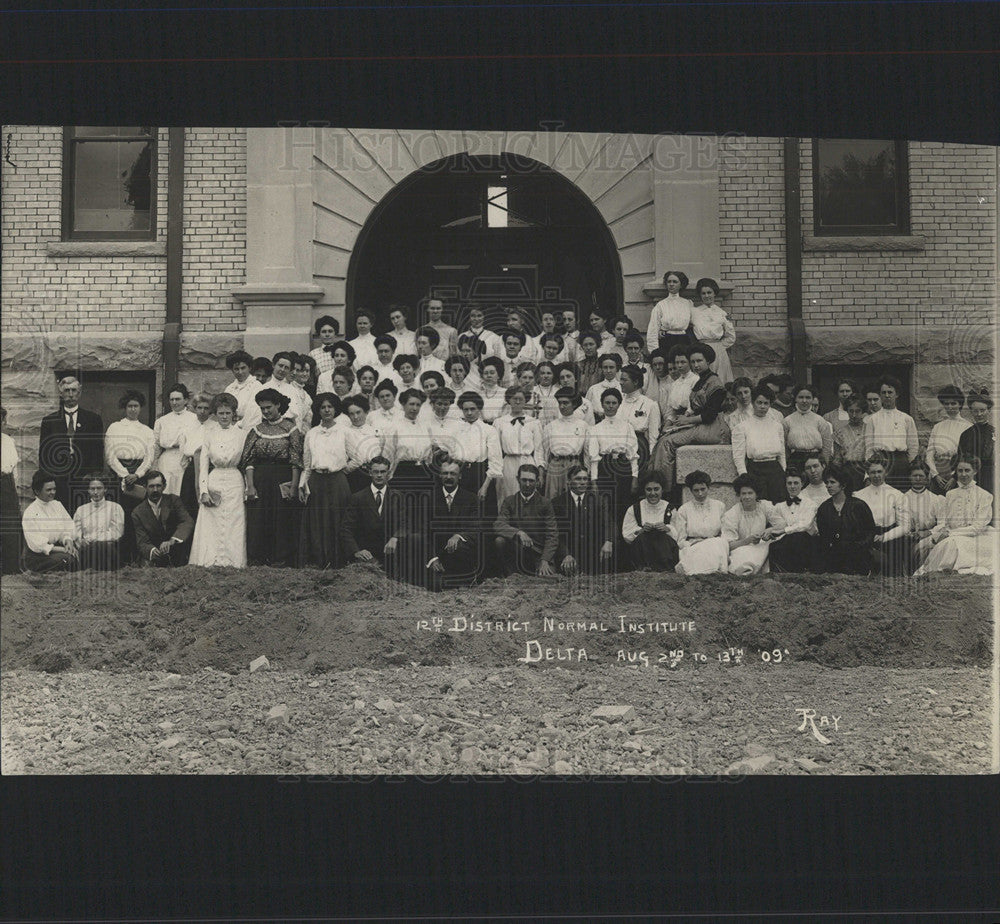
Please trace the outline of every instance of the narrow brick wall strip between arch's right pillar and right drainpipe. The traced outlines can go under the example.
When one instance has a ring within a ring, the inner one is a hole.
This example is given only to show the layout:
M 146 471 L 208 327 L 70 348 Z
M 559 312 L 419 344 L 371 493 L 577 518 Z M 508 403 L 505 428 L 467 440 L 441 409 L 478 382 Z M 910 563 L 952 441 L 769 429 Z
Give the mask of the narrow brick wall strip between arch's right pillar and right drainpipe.
M 719 139 L 720 273 L 733 289 L 723 307 L 737 336 L 786 324 L 783 161 L 780 138 Z

